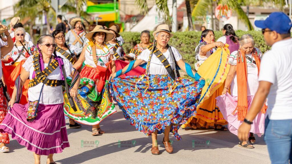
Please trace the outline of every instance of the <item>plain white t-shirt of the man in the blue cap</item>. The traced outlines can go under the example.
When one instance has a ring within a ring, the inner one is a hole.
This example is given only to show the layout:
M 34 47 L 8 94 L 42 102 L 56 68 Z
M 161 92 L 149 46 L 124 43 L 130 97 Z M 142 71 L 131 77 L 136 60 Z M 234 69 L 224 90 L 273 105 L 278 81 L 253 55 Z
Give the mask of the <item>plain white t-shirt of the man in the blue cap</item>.
M 272 83 L 267 115 L 271 120 L 292 119 L 292 39 L 278 41 L 260 63 L 258 81 Z

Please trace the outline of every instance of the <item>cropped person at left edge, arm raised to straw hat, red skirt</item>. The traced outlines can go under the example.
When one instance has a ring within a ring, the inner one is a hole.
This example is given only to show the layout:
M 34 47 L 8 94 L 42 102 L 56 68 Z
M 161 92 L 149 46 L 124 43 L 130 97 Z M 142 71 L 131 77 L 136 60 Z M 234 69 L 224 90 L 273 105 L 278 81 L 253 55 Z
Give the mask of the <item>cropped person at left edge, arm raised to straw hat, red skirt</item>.
M 7 46 L 1 46 L 0 47 L 0 54 L 1 57 L 8 54 L 12 48 L 13 48 L 13 41 L 12 38 L 7 30 L 8 28 L 0 23 L 0 34 L 4 32 L 5 36 L 7 37 Z M 0 77 L 2 77 L 2 64 L 0 64 Z M 7 98 L 4 96 L 4 85 L 5 81 L 3 81 L 4 78 L 1 78 L 1 85 L 0 85 L 0 123 L 4 120 L 4 117 L 6 116 L 8 109 L 7 109 Z M 4 84 L 4 85 L 3 85 Z M 8 133 L 0 133 L 0 152 L 9 152 L 9 148 L 6 147 L 6 144 L 9 144 L 9 136 Z

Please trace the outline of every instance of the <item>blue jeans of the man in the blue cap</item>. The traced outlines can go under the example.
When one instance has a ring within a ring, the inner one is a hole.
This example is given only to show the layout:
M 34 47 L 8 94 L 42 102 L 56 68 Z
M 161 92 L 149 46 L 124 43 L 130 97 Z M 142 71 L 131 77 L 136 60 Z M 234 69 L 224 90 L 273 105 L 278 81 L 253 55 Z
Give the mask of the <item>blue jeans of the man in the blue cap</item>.
M 292 120 L 265 120 L 264 140 L 272 164 L 288 164 L 292 162 Z

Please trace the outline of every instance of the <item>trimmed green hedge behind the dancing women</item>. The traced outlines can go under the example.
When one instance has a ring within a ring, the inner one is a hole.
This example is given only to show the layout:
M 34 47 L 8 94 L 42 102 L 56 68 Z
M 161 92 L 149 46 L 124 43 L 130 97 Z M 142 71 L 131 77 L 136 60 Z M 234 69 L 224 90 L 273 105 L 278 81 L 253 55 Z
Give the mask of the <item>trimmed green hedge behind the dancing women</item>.
M 235 32 L 239 38 L 244 34 L 251 34 L 255 41 L 255 46 L 260 48 L 264 53 L 270 49 L 269 46 L 265 44 L 264 37 L 259 31 L 241 31 Z M 126 53 L 128 53 L 131 48 L 133 48 L 137 43 L 140 43 L 140 33 L 139 32 L 121 32 L 120 33 L 125 44 L 123 48 Z M 151 32 L 152 34 L 152 32 Z M 173 37 L 169 41 L 169 45 L 178 49 L 180 54 L 183 56 L 185 62 L 189 63 L 194 68 L 195 59 L 195 48 L 201 39 L 201 32 L 175 32 Z M 218 39 L 222 36 L 221 31 L 215 31 L 215 38 Z M 154 37 L 151 35 L 150 41 L 153 41 Z

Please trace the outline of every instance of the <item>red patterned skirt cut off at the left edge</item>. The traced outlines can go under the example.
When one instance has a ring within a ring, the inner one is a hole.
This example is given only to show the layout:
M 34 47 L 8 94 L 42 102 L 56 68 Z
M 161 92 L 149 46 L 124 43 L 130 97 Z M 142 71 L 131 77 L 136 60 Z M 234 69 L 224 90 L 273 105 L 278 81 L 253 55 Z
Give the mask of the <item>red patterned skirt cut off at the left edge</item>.
M 7 109 L 7 100 L 4 97 L 3 88 L 0 88 L 0 123 L 4 120 L 8 112 Z M 0 143 L 9 144 L 9 136 L 8 133 L 0 133 Z

